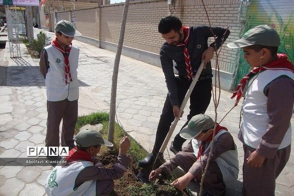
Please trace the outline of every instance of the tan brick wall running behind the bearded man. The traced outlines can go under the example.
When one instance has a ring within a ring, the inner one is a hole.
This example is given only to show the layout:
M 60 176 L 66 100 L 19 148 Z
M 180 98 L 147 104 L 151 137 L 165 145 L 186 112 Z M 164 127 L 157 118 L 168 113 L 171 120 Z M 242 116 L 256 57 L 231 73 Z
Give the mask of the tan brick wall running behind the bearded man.
M 236 0 L 206 0 L 205 3 L 211 25 L 225 28 L 229 26 L 231 35 L 226 43 L 239 38 L 241 27 L 237 21 L 239 2 Z M 157 32 L 157 25 L 161 18 L 169 15 L 169 11 L 167 0 L 130 1 L 123 45 L 158 54 L 164 39 Z M 75 13 L 76 28 L 83 36 L 118 43 L 123 3 L 72 12 L 58 12 L 57 18 L 69 20 L 69 14 L 66 13 Z M 200 0 L 176 1 L 173 15 L 179 17 L 184 25 L 208 25 Z M 209 42 L 212 41 L 212 39 L 209 40 Z M 233 72 L 235 53 L 236 51 L 227 47 L 221 49 L 219 64 L 222 71 Z

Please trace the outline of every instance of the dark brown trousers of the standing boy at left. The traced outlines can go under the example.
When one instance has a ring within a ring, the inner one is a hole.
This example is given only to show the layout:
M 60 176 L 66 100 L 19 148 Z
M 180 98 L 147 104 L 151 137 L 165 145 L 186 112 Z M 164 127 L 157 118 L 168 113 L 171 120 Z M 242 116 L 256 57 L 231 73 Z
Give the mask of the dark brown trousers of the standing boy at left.
M 61 132 L 61 146 L 74 146 L 73 134 L 75 123 L 77 121 L 77 99 L 69 101 L 68 99 L 62 101 L 47 101 L 47 133 L 46 133 L 46 147 L 59 146 L 59 125 L 62 119 Z

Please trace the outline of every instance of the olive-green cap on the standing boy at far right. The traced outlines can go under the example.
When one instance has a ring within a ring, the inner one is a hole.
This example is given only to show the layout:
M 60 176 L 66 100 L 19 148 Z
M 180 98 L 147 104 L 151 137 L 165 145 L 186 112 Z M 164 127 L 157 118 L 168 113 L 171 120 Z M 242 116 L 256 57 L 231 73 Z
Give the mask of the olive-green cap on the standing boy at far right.
M 269 25 L 259 25 L 249 29 L 240 40 L 227 44 L 227 47 L 236 49 L 255 44 L 279 47 L 280 37 L 275 29 Z

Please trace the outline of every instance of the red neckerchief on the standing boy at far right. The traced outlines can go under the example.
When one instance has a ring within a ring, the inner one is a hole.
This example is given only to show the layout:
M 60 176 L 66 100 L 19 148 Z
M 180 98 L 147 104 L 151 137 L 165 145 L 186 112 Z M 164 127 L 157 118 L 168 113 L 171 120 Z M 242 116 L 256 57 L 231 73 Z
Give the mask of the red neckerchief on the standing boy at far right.
M 251 70 L 242 78 L 242 80 L 240 81 L 240 84 L 238 84 L 235 91 L 233 92 L 233 96 L 231 97 L 231 98 L 234 98 L 237 96 L 235 106 L 238 105 L 238 102 L 244 93 L 246 83 L 256 73 L 259 73 L 265 70 L 289 70 L 291 72 L 294 72 L 293 64 L 290 61 L 288 61 L 287 55 L 286 54 L 277 54 L 277 55 L 278 55 L 277 60 L 272 61 L 268 63 L 267 65 L 263 65 L 254 70 Z

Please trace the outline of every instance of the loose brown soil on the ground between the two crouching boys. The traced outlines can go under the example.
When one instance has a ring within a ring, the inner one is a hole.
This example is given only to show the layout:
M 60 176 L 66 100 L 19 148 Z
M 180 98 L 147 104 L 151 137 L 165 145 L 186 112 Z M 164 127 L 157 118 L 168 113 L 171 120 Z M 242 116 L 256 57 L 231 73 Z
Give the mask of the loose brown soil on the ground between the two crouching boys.
M 103 151 L 98 154 L 99 161 L 103 164 L 104 168 L 112 168 L 116 163 L 117 155 L 112 151 Z M 157 184 L 143 184 L 138 181 L 136 175 L 140 172 L 140 167 L 134 163 L 133 157 L 128 154 L 131 163 L 128 166 L 123 177 L 114 180 L 114 192 L 112 196 L 189 196 L 190 194 L 182 193 L 172 186 L 171 180 L 161 179 Z

